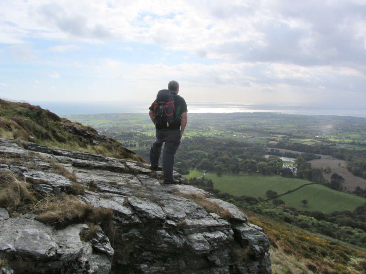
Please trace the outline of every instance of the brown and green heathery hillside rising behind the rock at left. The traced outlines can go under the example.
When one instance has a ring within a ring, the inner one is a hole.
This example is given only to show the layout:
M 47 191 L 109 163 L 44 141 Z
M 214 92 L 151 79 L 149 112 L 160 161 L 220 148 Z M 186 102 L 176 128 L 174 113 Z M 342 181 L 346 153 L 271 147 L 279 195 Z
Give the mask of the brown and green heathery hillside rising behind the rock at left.
M 119 142 L 28 103 L 0 99 L 0 138 L 145 162 Z

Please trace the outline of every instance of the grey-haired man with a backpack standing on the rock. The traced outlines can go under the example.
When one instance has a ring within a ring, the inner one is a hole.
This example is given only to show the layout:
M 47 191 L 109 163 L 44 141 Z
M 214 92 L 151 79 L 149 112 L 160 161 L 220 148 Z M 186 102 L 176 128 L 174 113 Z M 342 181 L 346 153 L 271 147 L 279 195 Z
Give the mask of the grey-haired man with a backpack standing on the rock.
M 173 166 L 175 153 L 188 120 L 186 101 L 178 95 L 178 92 L 178 82 L 170 81 L 168 90 L 160 90 L 156 100 L 149 107 L 149 115 L 156 128 L 156 140 L 150 149 L 151 168 L 158 169 L 161 146 L 165 142 L 163 150 L 163 179 L 165 184 L 179 183 L 173 177 Z

